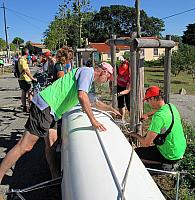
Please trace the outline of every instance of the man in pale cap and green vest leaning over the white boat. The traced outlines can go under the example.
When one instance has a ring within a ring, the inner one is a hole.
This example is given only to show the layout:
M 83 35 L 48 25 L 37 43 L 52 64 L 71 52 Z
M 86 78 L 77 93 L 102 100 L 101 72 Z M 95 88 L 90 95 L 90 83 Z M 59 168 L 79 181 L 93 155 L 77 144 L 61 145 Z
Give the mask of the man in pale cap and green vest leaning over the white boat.
M 33 97 L 29 118 L 25 131 L 19 142 L 8 152 L 0 165 L 0 182 L 5 173 L 25 153 L 32 150 L 40 137 L 47 138 L 50 129 L 55 129 L 55 121 L 79 102 L 86 112 L 92 126 L 99 131 L 105 131 L 103 124 L 96 120 L 91 109 L 88 92 L 93 81 L 105 83 L 113 79 L 113 68 L 108 63 L 102 63 L 94 69 L 81 67 L 73 69 L 64 77 L 56 80 Z M 116 115 L 120 113 L 105 104 L 99 104 L 104 110 L 111 110 Z

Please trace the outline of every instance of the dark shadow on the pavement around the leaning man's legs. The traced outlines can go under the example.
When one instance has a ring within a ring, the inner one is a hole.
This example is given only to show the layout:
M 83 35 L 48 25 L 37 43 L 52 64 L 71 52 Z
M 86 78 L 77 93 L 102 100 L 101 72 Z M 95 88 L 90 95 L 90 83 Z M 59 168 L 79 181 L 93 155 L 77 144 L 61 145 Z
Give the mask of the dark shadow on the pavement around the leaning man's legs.
M 4 110 L 5 111 L 5 110 Z M 0 148 L 7 153 L 20 139 L 22 129 L 12 129 L 12 132 L 1 134 Z M 23 189 L 44 181 L 50 180 L 51 175 L 45 159 L 44 140 L 39 139 L 33 150 L 22 156 L 12 169 L 12 176 L 6 175 L 2 180 L 3 185 L 9 185 L 10 189 Z M 22 193 L 26 200 L 60 200 L 60 185 L 41 188 L 28 193 Z M 7 200 L 20 199 L 16 195 L 8 195 Z

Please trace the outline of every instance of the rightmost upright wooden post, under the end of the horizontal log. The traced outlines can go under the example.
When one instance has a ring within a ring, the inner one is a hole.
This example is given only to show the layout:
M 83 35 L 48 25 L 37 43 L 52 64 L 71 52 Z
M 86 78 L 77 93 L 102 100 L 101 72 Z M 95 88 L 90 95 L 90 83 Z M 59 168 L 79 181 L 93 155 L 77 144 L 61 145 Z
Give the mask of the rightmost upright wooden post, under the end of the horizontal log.
M 171 40 L 170 35 L 166 35 L 167 40 Z M 171 48 L 165 48 L 165 62 L 164 62 L 164 94 L 165 102 L 169 103 L 171 92 Z

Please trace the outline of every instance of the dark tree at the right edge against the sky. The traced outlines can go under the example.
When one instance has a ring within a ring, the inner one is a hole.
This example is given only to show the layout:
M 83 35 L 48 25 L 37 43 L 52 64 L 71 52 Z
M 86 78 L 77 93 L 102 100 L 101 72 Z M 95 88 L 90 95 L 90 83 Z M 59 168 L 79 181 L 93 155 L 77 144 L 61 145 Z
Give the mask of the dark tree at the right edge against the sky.
M 187 26 L 187 30 L 184 31 L 182 36 L 182 41 L 184 44 L 195 46 L 195 23 Z

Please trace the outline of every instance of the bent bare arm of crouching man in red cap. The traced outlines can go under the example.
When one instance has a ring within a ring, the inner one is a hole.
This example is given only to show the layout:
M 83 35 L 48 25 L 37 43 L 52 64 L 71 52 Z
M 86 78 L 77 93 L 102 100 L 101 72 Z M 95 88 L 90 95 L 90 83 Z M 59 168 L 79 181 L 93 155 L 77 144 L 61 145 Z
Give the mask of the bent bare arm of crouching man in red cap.
M 149 131 L 146 137 L 142 137 L 137 133 L 131 133 L 131 136 L 137 138 L 143 147 L 149 147 L 153 144 L 153 140 L 157 136 L 157 133 Z

